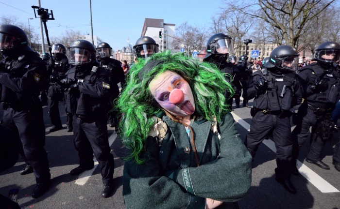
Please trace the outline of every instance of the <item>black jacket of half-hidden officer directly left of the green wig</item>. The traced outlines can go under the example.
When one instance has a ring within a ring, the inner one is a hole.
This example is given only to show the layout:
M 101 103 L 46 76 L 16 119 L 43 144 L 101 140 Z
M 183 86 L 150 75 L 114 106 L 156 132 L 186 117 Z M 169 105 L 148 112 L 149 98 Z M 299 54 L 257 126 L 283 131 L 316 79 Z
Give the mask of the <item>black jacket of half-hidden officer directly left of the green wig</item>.
M 122 63 L 119 60 L 111 58 L 101 59 L 100 66 L 110 73 L 110 97 L 116 98 L 119 95 L 119 87 L 117 85 L 119 82 L 121 87 L 125 85 L 125 75 L 121 64 Z

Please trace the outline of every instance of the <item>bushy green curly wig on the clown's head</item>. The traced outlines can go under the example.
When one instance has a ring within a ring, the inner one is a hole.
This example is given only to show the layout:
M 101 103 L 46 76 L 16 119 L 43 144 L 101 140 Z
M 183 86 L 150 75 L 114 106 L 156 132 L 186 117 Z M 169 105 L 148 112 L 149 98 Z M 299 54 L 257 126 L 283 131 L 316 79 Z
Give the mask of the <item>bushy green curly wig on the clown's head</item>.
M 150 67 L 150 63 L 156 64 Z M 182 53 L 171 54 L 170 51 L 156 53 L 146 60 L 140 59 L 131 68 L 127 84 L 117 101 L 122 114 L 119 123 L 121 138 L 131 151 L 126 160 L 134 158 L 138 164 L 145 162 L 140 154 L 153 128 L 152 117 L 162 111 L 155 105 L 149 83 L 157 74 L 165 71 L 181 75 L 189 83 L 195 99 L 196 115 L 210 121 L 215 118 L 219 121 L 221 115 L 228 111 L 224 91 L 228 90 L 232 96 L 234 90 L 216 65 L 201 63 L 184 57 Z

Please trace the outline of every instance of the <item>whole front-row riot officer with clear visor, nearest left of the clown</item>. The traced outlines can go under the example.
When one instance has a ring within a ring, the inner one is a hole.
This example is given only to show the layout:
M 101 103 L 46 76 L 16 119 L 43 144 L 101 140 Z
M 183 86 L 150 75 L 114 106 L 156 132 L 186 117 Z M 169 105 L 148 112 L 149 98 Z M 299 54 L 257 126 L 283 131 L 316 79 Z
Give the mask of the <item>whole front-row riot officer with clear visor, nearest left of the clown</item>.
M 68 112 L 73 114 L 74 146 L 79 166 L 70 174 L 79 175 L 94 166 L 93 154 L 102 174 L 102 197 L 113 189 L 114 158 L 110 153 L 107 133 L 109 103 L 109 72 L 96 59 L 96 48 L 85 40 L 74 41 L 68 47 L 68 62 L 75 67 L 62 79 L 67 91 Z

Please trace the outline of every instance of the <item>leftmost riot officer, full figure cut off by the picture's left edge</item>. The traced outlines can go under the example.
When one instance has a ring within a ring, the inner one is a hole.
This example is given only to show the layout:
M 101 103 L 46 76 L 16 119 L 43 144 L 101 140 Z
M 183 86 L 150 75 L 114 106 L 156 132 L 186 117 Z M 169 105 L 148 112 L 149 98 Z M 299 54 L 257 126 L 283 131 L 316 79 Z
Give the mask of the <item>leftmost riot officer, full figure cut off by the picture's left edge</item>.
M 34 172 L 36 186 L 32 197 L 43 194 L 51 174 L 45 145 L 45 124 L 39 100 L 46 63 L 27 45 L 26 33 L 13 25 L 0 25 L 0 90 L 2 124 L 18 133 L 22 142 L 21 156 L 28 164 L 25 174 Z M 25 171 L 24 170 L 24 171 Z

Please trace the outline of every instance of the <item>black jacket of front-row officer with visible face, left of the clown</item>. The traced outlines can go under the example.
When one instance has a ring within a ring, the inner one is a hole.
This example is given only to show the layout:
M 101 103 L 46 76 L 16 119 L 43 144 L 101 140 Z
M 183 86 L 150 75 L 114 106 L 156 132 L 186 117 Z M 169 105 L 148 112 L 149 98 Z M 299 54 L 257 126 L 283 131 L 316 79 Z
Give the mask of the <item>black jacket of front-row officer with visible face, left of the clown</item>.
M 67 110 L 78 117 L 106 118 L 108 112 L 109 74 L 94 63 L 73 67 L 66 73 L 67 78 L 77 79 L 78 88 L 66 93 Z M 84 67 L 84 66 L 82 66 Z

